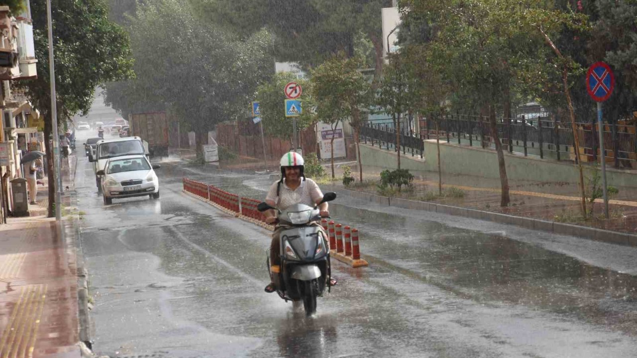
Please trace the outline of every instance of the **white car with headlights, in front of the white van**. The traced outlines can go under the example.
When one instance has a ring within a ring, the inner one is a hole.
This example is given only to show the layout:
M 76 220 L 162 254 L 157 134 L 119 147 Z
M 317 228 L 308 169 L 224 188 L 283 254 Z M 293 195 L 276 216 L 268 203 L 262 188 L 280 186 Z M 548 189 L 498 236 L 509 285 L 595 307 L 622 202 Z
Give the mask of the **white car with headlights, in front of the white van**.
M 159 199 L 159 179 L 154 169 L 157 164 L 150 164 L 145 155 L 125 155 L 115 157 L 106 162 L 103 175 L 102 192 L 104 204 L 112 204 L 113 199 L 134 196 L 150 196 Z

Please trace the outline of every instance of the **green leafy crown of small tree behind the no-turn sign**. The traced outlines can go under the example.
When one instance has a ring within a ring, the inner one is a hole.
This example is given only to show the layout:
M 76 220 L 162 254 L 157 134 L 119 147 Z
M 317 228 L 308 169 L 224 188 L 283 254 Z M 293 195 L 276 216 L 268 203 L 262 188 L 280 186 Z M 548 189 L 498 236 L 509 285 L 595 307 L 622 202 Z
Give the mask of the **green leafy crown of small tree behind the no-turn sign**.
M 313 101 L 310 96 L 310 83 L 296 78 L 292 73 L 276 73 L 268 82 L 257 88 L 256 100 L 261 107 L 263 130 L 269 136 L 289 140 L 292 138 L 292 118 L 285 117 L 285 93 L 283 87 L 289 82 L 297 82 L 303 88 L 301 96 L 303 114 L 296 118 L 297 130 L 301 130 L 313 123 L 311 108 Z M 245 106 L 245 105 L 244 105 Z

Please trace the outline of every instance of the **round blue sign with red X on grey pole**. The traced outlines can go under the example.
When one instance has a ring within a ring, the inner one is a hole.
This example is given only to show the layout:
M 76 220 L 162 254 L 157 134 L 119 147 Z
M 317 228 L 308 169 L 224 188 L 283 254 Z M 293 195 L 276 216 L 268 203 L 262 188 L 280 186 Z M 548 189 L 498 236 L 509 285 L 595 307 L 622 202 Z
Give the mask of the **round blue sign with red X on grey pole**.
M 604 193 L 604 215 L 608 215 L 608 192 L 606 190 L 606 149 L 604 147 L 604 124 L 602 122 L 601 103 L 606 101 L 615 88 L 613 70 L 604 62 L 596 62 L 590 66 L 586 74 L 586 90 L 589 96 L 598 103 L 599 154 L 601 157 L 601 185 Z M 615 153 L 617 155 L 617 153 Z

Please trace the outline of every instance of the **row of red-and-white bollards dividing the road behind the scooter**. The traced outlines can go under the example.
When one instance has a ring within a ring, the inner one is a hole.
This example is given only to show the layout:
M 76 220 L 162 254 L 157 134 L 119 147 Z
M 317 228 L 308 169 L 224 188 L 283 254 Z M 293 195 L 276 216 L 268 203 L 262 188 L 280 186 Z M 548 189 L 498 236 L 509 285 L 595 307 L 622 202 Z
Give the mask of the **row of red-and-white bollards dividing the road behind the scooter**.
M 252 222 L 252 224 L 264 227 L 269 231 L 275 229 L 274 226 L 266 224 L 266 216 L 257 210 L 257 205 L 261 203 L 259 200 L 240 197 L 214 185 L 206 185 L 188 178 L 183 178 L 183 192 L 197 197 L 197 199 L 201 199 L 225 213 L 241 218 L 241 220 Z M 336 223 L 334 220 L 327 222 L 327 219 L 322 219 L 320 224 L 329 238 L 332 257 L 353 268 L 368 266 L 368 262 L 361 259 L 359 231 L 357 229 L 349 226 L 343 227 L 343 224 Z M 345 229 L 345 234 L 343 234 L 343 229 Z M 343 238 L 345 238 L 344 243 Z

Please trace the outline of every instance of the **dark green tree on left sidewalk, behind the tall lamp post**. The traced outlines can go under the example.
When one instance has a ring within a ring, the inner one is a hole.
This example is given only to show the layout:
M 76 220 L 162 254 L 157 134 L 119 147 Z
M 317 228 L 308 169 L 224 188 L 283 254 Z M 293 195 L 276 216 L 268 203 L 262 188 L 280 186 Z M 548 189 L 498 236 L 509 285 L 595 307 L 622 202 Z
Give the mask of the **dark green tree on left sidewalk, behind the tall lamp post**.
M 15 83 L 24 87 L 29 100 L 45 118 L 45 145 L 50 144 L 52 120 L 61 122 L 76 113 L 87 114 L 97 85 L 131 76 L 129 38 L 108 20 L 108 7 L 102 0 L 58 0 L 52 8 L 55 54 L 57 118 L 51 118 L 48 63 L 47 5 L 31 0 L 33 37 L 38 59 L 38 78 Z M 97 36 L 96 34 L 99 34 Z M 55 183 L 53 155 L 47 155 L 49 190 L 48 216 L 54 216 Z

